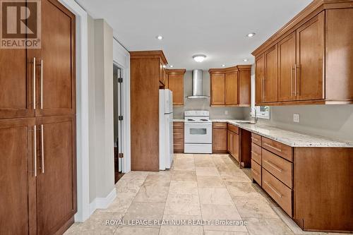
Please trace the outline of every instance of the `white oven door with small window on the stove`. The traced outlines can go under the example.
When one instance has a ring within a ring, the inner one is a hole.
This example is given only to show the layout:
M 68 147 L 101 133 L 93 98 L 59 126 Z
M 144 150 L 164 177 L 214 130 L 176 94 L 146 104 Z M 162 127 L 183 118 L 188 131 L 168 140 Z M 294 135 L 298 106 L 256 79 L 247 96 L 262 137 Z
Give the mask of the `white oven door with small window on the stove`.
M 212 123 L 189 123 L 184 126 L 185 143 L 212 143 Z

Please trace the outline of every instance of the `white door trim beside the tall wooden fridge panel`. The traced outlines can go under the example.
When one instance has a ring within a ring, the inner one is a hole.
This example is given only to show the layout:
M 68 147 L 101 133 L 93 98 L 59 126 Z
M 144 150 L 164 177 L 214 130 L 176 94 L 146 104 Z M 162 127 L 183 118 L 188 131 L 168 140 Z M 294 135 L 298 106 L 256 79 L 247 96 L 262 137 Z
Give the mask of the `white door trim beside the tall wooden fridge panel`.
M 127 173 L 131 171 L 131 133 L 130 133 L 130 53 L 121 46 L 121 44 L 114 38 L 113 39 L 113 63 L 118 65 L 123 73 L 123 107 L 122 114 L 123 120 L 123 146 L 124 152 L 123 160 L 123 172 Z

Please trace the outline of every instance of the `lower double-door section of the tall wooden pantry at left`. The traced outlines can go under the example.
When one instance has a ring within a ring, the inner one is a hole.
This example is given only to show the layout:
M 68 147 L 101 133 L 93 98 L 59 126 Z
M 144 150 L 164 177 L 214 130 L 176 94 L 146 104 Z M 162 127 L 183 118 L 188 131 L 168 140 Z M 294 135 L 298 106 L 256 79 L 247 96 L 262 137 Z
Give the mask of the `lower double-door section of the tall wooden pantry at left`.
M 54 234 L 73 222 L 75 133 L 73 116 L 0 120 L 0 234 Z

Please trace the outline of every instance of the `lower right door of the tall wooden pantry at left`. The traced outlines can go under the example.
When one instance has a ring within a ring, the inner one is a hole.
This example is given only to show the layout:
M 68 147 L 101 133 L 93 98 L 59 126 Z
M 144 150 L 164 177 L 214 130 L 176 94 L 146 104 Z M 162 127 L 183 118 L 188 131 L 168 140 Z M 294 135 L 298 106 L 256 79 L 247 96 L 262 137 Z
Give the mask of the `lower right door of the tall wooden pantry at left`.
M 38 234 L 54 234 L 76 212 L 76 145 L 73 116 L 37 118 L 40 172 L 37 176 Z

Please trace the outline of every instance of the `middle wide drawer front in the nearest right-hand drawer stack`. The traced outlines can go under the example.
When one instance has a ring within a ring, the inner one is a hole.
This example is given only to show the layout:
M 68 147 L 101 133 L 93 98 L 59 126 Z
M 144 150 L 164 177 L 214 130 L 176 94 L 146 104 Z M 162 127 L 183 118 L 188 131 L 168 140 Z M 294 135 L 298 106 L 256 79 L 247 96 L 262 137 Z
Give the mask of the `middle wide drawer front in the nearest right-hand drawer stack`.
M 279 157 L 272 152 L 263 149 L 262 166 L 277 179 L 285 183 L 289 188 L 292 186 L 293 163 Z

